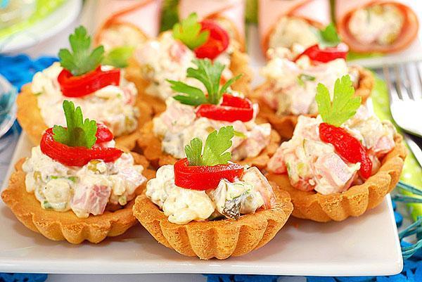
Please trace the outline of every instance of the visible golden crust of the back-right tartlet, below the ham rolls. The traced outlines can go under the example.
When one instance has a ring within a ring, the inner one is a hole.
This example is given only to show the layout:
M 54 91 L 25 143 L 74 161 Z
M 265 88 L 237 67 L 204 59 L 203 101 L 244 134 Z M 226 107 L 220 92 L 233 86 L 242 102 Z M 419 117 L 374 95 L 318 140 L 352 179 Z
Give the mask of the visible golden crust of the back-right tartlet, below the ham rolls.
M 357 67 L 356 67 L 357 68 Z M 362 97 L 362 103 L 365 103 L 366 99 L 371 95 L 373 89 L 373 84 L 375 79 L 373 79 L 372 72 L 364 68 L 358 68 L 359 70 L 359 86 L 355 90 L 354 94 L 356 96 Z M 270 82 L 264 82 L 252 92 L 253 101 L 256 101 L 260 104 L 260 113 L 258 118 L 266 120 L 271 123 L 271 126 L 280 134 L 283 139 L 290 139 L 293 136 L 293 131 L 295 126 L 298 123 L 297 115 L 277 115 L 276 111 L 273 110 L 265 101 L 263 101 L 262 92 L 266 91 L 270 86 Z M 315 117 L 316 115 L 308 115 Z

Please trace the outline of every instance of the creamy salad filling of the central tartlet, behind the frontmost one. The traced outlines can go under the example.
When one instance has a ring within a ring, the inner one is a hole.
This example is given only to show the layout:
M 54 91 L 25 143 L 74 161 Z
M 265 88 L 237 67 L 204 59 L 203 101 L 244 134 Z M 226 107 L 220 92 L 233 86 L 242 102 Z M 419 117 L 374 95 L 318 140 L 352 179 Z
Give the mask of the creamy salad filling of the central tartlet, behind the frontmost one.
M 153 119 L 153 132 L 162 138 L 162 150 L 174 158 L 184 158 L 184 147 L 193 137 L 205 141 L 208 134 L 215 129 L 232 125 L 238 132 L 232 139 L 233 145 L 229 149 L 233 160 L 256 157 L 269 144 L 270 124 L 256 124 L 255 117 L 258 113 L 258 105 L 253 105 L 254 118 L 249 122 L 223 122 L 210 120 L 207 117 L 197 117 L 196 108 L 184 105 L 167 98 L 167 108 L 159 117 Z

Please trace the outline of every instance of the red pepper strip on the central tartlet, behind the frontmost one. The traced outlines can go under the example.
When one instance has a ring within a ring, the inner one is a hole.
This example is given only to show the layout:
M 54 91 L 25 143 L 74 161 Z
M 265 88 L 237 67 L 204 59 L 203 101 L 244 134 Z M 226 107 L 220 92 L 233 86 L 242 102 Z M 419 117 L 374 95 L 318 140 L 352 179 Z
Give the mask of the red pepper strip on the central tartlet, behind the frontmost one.
M 236 120 L 248 122 L 253 118 L 253 107 L 252 102 L 248 98 L 224 94 L 221 105 L 199 105 L 196 115 L 225 122 L 234 122 Z

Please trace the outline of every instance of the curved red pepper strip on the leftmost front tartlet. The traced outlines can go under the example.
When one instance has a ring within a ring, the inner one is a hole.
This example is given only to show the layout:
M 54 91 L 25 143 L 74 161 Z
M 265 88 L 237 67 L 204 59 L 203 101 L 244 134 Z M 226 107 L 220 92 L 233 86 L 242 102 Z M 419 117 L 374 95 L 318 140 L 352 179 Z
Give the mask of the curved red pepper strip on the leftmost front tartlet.
M 103 160 L 104 162 L 114 162 L 122 151 L 116 148 L 85 148 L 70 147 L 59 143 L 53 139 L 53 129 L 49 128 L 42 136 L 40 143 L 41 152 L 48 155 L 53 160 L 62 165 L 82 167 L 87 165 L 90 160 Z

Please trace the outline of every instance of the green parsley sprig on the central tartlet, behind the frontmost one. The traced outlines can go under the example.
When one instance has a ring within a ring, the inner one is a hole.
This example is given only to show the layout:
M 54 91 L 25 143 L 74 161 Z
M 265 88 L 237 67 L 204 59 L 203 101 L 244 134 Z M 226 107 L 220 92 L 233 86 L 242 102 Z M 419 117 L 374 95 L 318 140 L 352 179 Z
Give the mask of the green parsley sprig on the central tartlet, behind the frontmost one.
M 172 89 L 186 95 L 176 95 L 173 98 L 185 105 L 201 105 L 205 103 L 217 105 L 229 86 L 236 82 L 241 75 L 232 77 L 223 86 L 220 86 L 222 72 L 225 68 L 219 62 L 212 63 L 210 59 L 193 60 L 198 68 L 188 68 L 186 77 L 198 79 L 207 89 L 207 95 L 198 87 L 167 79 Z

